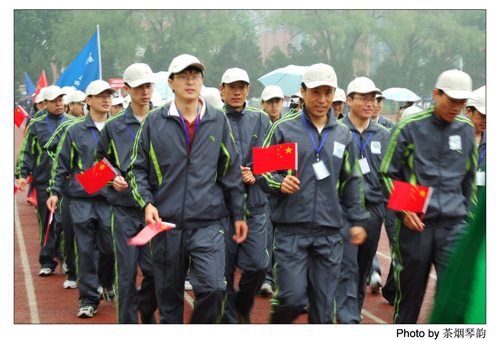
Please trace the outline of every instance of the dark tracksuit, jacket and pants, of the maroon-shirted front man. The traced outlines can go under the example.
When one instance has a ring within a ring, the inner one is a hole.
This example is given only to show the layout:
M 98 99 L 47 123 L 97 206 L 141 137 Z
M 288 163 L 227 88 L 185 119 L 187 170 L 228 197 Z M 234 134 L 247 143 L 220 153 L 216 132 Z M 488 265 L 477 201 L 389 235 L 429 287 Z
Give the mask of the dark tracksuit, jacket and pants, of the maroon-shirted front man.
M 151 240 L 156 298 L 162 323 L 182 323 L 183 278 L 187 263 L 183 266 L 178 263 L 185 261 L 186 251 L 200 251 L 196 245 L 204 241 L 196 235 L 202 235 L 211 225 L 223 225 L 227 210 L 235 220 L 244 219 L 240 158 L 227 117 L 220 108 L 206 105 L 206 101 L 199 98 L 205 104 L 201 106 L 189 154 L 177 111 L 173 106 L 170 111 L 170 106 L 174 105 L 172 101 L 149 111 L 142 121 L 127 172 L 132 195 L 140 207 L 152 203 L 162 221 L 176 225 L 169 230 L 172 232 L 160 233 Z M 216 244 L 219 247 L 220 242 L 223 247 L 223 234 L 219 234 L 222 238 L 216 238 Z M 168 243 L 166 235 L 177 241 Z M 189 243 L 184 242 L 183 237 Z M 196 294 L 191 322 L 212 323 L 220 316 L 225 285 L 218 282 L 219 279 L 223 281 L 224 275 L 224 253 L 219 250 L 214 249 L 215 257 L 208 254 L 191 256 L 193 263 L 197 261 L 194 268 L 191 263 L 191 284 L 195 291 L 197 287 L 203 287 Z M 204 256 L 206 263 L 201 263 L 199 256 Z M 175 257 L 175 267 L 165 264 L 171 257 Z M 213 278 L 217 282 L 198 281 L 198 275 L 206 277 L 208 272 L 216 276 Z M 157 284 L 158 280 L 162 283 Z M 178 296 L 174 299 L 173 295 Z

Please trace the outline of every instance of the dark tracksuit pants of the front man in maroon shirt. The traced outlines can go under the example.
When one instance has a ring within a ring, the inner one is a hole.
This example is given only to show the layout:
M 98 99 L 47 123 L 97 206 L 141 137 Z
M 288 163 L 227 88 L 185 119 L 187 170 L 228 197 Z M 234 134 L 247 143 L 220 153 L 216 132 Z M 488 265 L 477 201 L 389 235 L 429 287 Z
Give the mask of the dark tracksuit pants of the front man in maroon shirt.
M 225 298 L 224 230 L 220 223 L 173 229 L 151 239 L 153 276 L 160 323 L 183 323 L 184 278 L 195 296 L 191 323 L 218 323 Z M 187 257 L 188 258 L 188 257 Z

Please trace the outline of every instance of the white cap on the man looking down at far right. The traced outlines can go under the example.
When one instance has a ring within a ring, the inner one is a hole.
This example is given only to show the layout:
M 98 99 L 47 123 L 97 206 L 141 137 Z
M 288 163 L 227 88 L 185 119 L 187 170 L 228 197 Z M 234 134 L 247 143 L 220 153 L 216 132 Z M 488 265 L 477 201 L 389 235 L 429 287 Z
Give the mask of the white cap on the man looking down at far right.
M 450 98 L 474 98 L 472 78 L 458 69 L 449 69 L 439 74 L 434 88 L 442 90 Z

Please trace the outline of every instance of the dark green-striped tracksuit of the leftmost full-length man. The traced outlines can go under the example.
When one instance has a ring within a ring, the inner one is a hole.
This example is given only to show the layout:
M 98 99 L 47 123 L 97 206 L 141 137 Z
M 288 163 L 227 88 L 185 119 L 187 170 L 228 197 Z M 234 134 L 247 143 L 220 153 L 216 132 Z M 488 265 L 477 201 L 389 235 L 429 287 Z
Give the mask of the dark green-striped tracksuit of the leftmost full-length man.
M 73 116 L 66 113 L 53 114 L 46 109 L 41 110 L 38 118 L 33 119 L 26 127 L 19 154 L 17 157 L 16 177 L 28 178 L 32 174 L 32 184 L 36 189 L 38 205 L 38 229 L 40 234 L 39 261 L 42 267 L 54 269 L 57 262 L 53 259 L 56 252 L 55 219 L 51 223 L 47 243 L 45 246 L 45 233 L 48 224 L 48 209 L 44 202 L 47 200 L 48 179 L 50 176 L 51 158 L 43 149 L 45 143 L 50 139 L 54 131 L 64 121 L 72 120 Z

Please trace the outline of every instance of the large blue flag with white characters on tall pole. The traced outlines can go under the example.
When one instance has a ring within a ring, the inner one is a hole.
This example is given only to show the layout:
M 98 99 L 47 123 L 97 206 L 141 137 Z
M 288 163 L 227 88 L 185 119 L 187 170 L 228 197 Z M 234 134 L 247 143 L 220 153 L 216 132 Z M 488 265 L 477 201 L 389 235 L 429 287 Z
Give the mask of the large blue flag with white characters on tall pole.
M 97 28 L 90 41 L 67 66 L 55 84 L 59 87 L 71 86 L 84 91 L 91 81 L 100 78 L 99 29 Z

